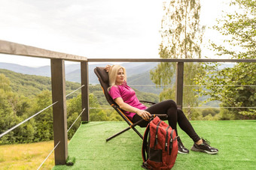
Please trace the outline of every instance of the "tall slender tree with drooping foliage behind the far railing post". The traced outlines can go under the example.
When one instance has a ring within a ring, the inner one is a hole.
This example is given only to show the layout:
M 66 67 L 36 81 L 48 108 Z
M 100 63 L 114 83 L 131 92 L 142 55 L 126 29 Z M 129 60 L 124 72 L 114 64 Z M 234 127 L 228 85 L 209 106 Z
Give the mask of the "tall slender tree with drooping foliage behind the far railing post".
M 203 28 L 200 27 L 200 1 L 170 0 L 163 4 L 160 58 L 201 58 L 200 43 Z M 191 85 L 199 64 L 184 64 L 184 85 Z M 163 86 L 160 100 L 174 99 L 175 63 L 160 63 L 151 70 L 151 80 L 157 87 Z M 184 105 L 197 106 L 192 87 L 184 88 Z

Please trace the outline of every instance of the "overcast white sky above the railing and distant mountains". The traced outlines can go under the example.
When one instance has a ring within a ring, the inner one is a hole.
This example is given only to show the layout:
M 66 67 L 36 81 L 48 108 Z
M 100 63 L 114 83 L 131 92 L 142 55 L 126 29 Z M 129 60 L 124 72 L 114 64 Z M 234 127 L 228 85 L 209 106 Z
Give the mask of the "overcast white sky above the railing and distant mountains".
M 229 0 L 228 0 L 229 1 Z M 215 25 L 227 0 L 201 0 L 201 24 Z M 0 0 L 0 40 L 87 58 L 159 58 L 163 0 Z M 206 29 L 206 45 L 221 42 Z M 40 67 L 49 59 L 0 54 L 0 62 Z

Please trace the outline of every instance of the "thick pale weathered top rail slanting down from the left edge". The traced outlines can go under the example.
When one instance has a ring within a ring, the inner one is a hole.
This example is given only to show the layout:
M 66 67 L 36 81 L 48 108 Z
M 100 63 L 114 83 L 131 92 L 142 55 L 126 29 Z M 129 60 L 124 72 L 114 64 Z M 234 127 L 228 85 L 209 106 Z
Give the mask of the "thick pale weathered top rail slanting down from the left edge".
M 53 52 L 47 49 L 40 49 L 34 46 L 26 46 L 20 43 L 12 43 L 5 40 L 0 40 L 0 53 L 38 58 L 59 58 L 65 59 L 67 61 L 87 61 L 86 57 L 70 55 L 62 52 Z

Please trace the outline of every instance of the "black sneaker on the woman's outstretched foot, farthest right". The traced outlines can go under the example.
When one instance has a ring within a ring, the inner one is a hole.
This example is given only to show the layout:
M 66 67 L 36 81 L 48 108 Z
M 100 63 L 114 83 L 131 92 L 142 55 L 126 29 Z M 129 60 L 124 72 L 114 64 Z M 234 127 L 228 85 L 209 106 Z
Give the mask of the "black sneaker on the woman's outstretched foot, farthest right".
M 217 154 L 218 153 L 218 149 L 216 148 L 212 148 L 210 146 L 210 142 L 202 139 L 203 140 L 203 144 L 197 145 L 196 143 L 194 143 L 193 147 L 191 148 L 192 151 L 197 151 L 197 152 L 204 152 L 206 154 Z

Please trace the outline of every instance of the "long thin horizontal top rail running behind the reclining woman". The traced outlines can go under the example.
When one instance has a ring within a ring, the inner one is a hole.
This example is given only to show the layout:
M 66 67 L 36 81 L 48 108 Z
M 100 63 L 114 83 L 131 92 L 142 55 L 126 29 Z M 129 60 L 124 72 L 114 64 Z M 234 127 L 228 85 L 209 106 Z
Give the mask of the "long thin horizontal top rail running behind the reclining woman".
M 87 58 L 88 62 L 256 62 L 256 59 Z

